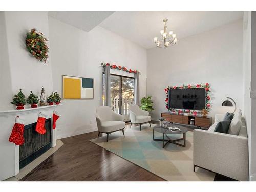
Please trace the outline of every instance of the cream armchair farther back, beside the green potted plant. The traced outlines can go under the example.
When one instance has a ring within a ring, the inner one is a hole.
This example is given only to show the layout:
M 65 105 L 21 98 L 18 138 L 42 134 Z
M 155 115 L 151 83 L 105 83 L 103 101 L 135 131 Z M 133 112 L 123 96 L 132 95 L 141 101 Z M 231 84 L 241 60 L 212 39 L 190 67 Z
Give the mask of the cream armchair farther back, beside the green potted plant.
M 148 111 L 140 109 L 137 104 L 131 104 L 129 106 L 129 113 L 130 113 L 130 119 L 131 119 L 131 126 L 133 123 L 139 124 L 140 131 L 141 131 L 141 124 L 150 123 L 151 121 L 151 116 L 149 116 L 150 113 Z M 151 127 L 151 124 L 150 124 L 150 127 Z

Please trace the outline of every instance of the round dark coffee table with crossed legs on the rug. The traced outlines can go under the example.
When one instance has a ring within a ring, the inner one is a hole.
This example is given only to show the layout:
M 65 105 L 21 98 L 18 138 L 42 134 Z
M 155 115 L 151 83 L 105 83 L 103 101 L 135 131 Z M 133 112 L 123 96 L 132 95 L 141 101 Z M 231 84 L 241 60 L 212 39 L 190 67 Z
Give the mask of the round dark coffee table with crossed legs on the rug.
M 186 132 L 187 132 L 187 129 L 185 127 L 181 127 L 181 126 L 177 126 L 177 127 L 179 127 L 179 129 L 181 131 L 172 132 L 168 128 L 161 127 L 160 125 L 154 126 L 154 128 L 153 128 L 153 140 L 154 141 L 162 141 L 163 142 L 163 148 L 166 146 L 167 143 L 173 143 L 173 144 L 176 144 L 176 145 L 179 145 L 179 146 L 186 147 Z M 159 132 L 159 133 L 162 133 L 163 138 L 162 139 L 155 139 L 155 131 Z M 164 134 L 167 137 L 167 139 L 164 139 Z M 172 139 L 169 138 L 169 136 L 167 134 L 170 134 L 170 135 L 182 134 L 182 138 L 172 140 Z M 184 144 L 177 143 L 177 141 L 181 141 L 181 140 L 184 140 Z

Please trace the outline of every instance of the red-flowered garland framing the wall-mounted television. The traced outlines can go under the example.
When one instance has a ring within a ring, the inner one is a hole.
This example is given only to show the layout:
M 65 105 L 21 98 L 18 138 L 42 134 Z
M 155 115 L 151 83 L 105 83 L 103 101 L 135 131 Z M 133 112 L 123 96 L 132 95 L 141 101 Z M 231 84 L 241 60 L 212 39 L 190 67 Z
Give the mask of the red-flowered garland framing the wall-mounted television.
M 171 111 L 174 114 L 184 114 L 184 113 L 188 113 L 191 115 L 201 115 L 202 111 L 201 110 L 184 110 L 184 109 L 174 109 L 174 108 L 168 108 L 168 91 L 169 89 L 190 89 L 190 88 L 204 88 L 205 89 L 205 109 L 209 112 L 211 105 L 210 105 L 210 96 L 209 96 L 209 92 L 210 92 L 210 86 L 209 83 L 205 83 L 205 84 L 196 84 L 194 86 L 191 86 L 190 84 L 188 85 L 184 85 L 183 86 L 171 86 L 171 87 L 167 87 L 164 89 L 165 93 L 166 93 L 166 99 L 165 99 L 165 106 L 166 109 L 168 109 L 168 111 Z

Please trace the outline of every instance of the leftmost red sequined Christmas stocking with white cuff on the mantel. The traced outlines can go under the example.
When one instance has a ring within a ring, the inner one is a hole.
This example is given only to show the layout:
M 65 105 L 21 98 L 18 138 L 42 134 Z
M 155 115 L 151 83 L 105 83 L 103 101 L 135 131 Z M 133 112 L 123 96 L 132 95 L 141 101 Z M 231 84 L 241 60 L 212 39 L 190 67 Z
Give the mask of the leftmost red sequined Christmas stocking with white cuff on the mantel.
M 22 145 L 24 143 L 24 122 L 16 117 L 15 124 L 12 128 L 12 133 L 10 135 L 9 141 L 15 143 L 16 145 Z

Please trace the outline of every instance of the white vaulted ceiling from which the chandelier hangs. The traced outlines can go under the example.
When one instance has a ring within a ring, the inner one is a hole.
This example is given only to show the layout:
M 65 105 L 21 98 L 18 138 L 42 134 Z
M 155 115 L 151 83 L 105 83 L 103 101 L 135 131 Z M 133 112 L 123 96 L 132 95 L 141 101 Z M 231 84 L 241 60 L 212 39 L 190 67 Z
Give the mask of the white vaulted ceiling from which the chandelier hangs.
M 155 47 L 153 37 L 160 37 L 164 18 L 168 19 L 167 31 L 173 30 L 180 39 L 242 19 L 243 12 L 51 11 L 49 15 L 87 32 L 99 25 L 149 49 Z

